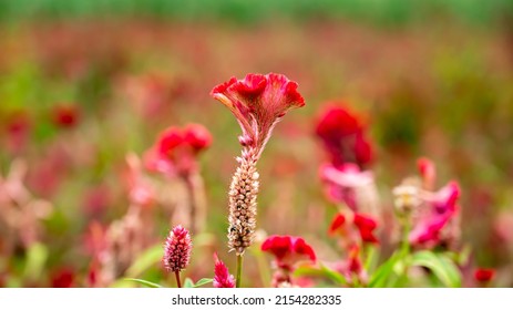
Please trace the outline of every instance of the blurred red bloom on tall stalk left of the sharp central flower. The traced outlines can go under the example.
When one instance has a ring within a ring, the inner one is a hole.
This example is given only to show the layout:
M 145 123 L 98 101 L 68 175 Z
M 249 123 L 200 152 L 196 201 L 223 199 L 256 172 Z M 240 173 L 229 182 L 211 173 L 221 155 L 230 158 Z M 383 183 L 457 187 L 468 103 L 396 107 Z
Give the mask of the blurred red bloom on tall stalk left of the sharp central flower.
M 166 175 L 187 175 L 196 168 L 196 156 L 212 144 L 211 133 L 199 124 L 168 127 L 145 154 L 146 168 Z

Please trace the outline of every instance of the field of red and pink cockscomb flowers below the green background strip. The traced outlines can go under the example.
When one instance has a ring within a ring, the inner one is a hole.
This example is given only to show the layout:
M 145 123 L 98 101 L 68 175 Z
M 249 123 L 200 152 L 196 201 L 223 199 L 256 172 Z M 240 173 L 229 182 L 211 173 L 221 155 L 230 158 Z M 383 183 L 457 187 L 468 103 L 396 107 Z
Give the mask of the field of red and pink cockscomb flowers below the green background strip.
M 0 25 L 0 287 L 513 287 L 513 25 Z

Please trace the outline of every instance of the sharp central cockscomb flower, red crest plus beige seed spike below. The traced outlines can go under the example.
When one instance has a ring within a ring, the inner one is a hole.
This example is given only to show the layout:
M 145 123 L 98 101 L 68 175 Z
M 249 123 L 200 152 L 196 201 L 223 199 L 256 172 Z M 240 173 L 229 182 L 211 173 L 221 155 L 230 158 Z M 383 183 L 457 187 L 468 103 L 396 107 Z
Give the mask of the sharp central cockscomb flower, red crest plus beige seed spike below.
M 242 156 L 229 187 L 228 246 L 242 256 L 253 242 L 256 229 L 257 194 L 259 189 L 256 163 L 270 137 L 274 126 L 288 110 L 305 105 L 297 83 L 285 75 L 269 73 L 232 78 L 215 86 L 211 95 L 226 105 L 243 131 Z

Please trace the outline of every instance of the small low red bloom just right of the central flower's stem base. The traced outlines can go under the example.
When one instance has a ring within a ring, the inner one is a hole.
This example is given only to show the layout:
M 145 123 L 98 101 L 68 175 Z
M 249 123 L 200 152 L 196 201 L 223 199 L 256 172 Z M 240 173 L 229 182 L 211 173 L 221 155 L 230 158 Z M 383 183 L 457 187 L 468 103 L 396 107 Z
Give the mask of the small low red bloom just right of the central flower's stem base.
M 287 270 L 291 270 L 299 260 L 316 261 L 314 249 L 300 237 L 270 236 L 261 244 L 260 249 L 273 254 L 278 268 Z

